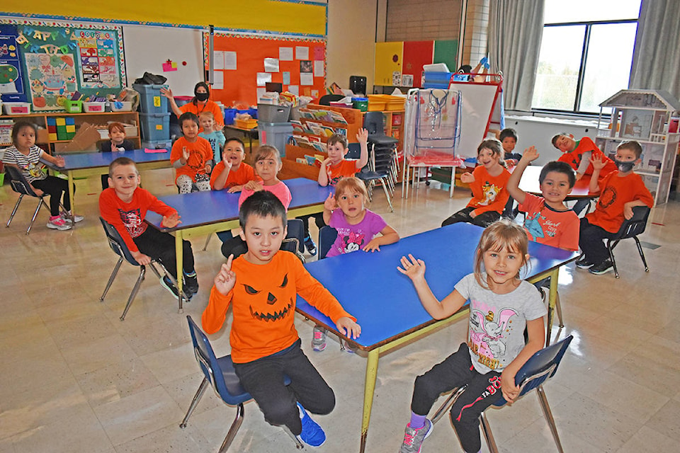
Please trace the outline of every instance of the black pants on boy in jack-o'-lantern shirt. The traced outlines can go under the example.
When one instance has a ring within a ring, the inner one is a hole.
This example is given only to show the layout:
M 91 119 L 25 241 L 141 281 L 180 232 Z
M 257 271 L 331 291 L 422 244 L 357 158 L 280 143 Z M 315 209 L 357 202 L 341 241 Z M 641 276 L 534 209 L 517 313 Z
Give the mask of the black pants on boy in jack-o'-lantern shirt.
M 273 355 L 253 362 L 234 363 L 243 388 L 253 396 L 264 419 L 272 425 L 285 425 L 299 435 L 302 431 L 299 401 L 307 411 L 325 415 L 335 407 L 335 395 L 321 374 L 300 349 L 300 339 Z M 290 385 L 283 384 L 283 376 Z

